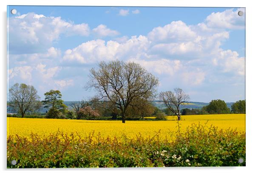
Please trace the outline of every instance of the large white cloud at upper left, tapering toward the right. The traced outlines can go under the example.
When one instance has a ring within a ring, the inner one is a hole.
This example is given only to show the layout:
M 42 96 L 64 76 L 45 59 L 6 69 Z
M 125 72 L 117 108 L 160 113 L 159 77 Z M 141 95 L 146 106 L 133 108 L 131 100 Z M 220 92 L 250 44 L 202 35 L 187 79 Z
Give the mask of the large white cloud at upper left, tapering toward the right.
M 61 34 L 88 36 L 88 24 L 66 22 L 61 17 L 46 17 L 42 14 L 22 14 L 9 18 L 10 53 L 38 53 L 52 45 Z

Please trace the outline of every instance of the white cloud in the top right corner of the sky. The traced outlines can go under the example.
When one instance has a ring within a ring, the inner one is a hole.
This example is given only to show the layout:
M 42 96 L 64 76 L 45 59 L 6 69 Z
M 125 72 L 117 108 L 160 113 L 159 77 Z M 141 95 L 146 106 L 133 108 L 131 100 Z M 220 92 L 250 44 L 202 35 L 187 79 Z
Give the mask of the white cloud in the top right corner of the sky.
M 236 11 L 231 8 L 223 12 L 213 12 L 206 17 L 205 22 L 210 28 L 244 29 L 245 14 L 239 16 L 238 11 L 245 13 L 245 8 L 238 8 Z

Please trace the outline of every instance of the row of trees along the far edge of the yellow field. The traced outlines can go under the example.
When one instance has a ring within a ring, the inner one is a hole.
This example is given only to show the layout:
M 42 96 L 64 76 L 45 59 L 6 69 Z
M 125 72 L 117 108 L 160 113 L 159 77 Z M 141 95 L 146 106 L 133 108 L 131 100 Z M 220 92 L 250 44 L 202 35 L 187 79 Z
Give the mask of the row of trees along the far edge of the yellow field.
M 122 116 L 122 123 L 126 118 L 144 118 L 155 114 L 156 108 L 151 101 L 157 97 L 156 88 L 159 80 L 145 68 L 134 62 L 110 61 L 100 62 L 98 67 L 90 70 L 89 81 L 86 90 L 94 89 L 97 97 L 90 101 L 78 101 L 71 107 L 77 115 L 77 119 L 84 116 L 97 117 L 102 113 L 111 114 L 113 118 Z M 20 110 L 22 117 L 28 111 L 41 107 L 40 97 L 37 90 L 31 85 L 14 84 L 9 90 L 10 101 L 14 107 Z M 62 118 L 63 115 L 72 115 L 67 106 L 63 104 L 59 90 L 50 90 L 45 93 L 44 107 L 48 108 L 47 118 Z M 165 91 L 158 94 L 167 109 L 180 120 L 181 106 L 189 102 L 189 95 L 182 89 Z M 223 101 L 224 102 L 224 101 Z M 212 110 L 225 110 L 221 102 L 212 101 L 213 104 L 204 109 L 211 113 Z M 225 102 L 224 102 L 225 103 Z M 239 108 L 234 106 L 234 109 Z M 215 111 L 214 111 L 215 112 Z

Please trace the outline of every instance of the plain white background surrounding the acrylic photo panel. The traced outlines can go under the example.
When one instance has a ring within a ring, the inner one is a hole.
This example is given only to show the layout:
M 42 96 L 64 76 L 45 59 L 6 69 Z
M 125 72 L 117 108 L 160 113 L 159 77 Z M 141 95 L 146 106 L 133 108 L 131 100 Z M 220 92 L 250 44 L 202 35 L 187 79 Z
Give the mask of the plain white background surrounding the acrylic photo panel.
M 2 151 L 0 155 L 0 170 L 6 172 L 19 172 L 19 173 L 34 173 L 34 172 L 48 172 L 48 173 L 69 173 L 69 172 L 81 172 L 81 173 L 120 173 L 128 174 L 131 172 L 140 173 L 226 173 L 231 170 L 232 173 L 252 173 L 255 171 L 254 163 L 256 158 L 255 153 L 255 123 L 256 114 L 255 111 L 255 69 L 256 69 L 256 54 L 255 54 L 255 17 L 256 9 L 253 6 L 253 1 L 245 0 L 1 0 L 0 12 L 1 12 L 1 140 L 0 149 Z M 6 170 L 6 91 L 7 91 L 7 55 L 6 55 L 6 9 L 7 5 L 48 5 L 48 6 L 189 6 L 189 7 L 246 7 L 246 101 L 247 101 L 247 120 L 246 120 L 246 167 L 208 167 L 208 168 L 114 168 L 114 169 L 39 169 L 35 170 Z

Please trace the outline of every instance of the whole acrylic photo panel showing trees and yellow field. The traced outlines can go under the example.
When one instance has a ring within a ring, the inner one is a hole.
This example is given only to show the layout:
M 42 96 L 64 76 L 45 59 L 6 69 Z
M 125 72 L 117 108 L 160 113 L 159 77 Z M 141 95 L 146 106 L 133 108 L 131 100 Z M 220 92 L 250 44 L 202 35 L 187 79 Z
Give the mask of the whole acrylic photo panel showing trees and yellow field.
M 245 166 L 245 8 L 7 6 L 7 168 Z

